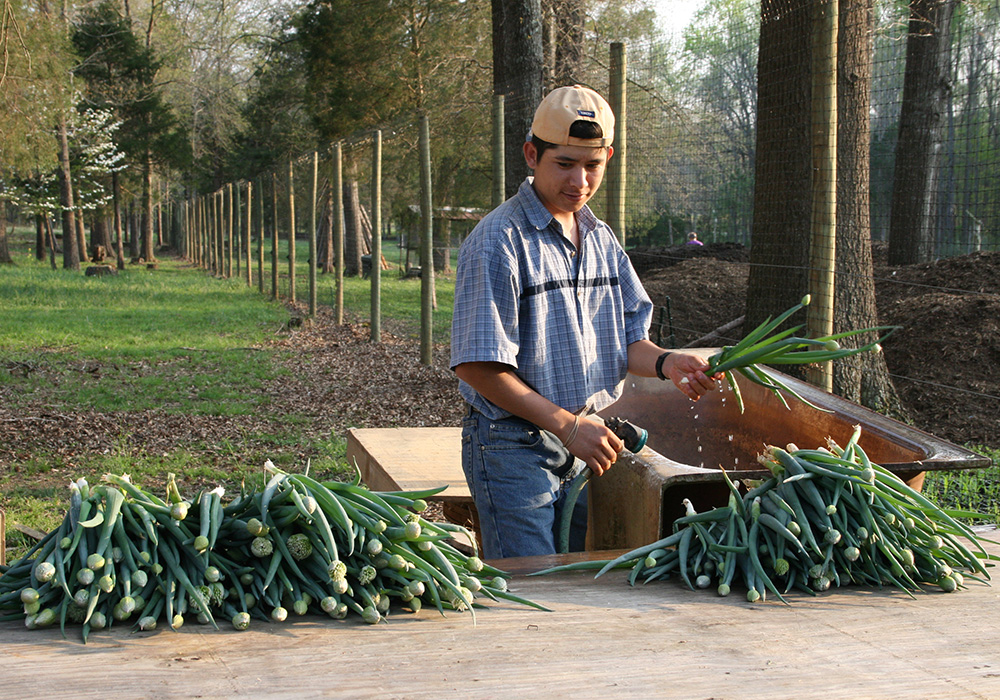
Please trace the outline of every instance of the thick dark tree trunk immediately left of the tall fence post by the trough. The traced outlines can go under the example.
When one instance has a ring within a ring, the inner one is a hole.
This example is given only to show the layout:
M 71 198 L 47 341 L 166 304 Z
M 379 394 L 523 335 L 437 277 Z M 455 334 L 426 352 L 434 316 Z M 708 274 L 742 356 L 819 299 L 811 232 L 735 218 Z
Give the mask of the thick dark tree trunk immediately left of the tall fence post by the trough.
M 809 285 L 811 5 L 761 4 L 748 331 L 797 304 Z

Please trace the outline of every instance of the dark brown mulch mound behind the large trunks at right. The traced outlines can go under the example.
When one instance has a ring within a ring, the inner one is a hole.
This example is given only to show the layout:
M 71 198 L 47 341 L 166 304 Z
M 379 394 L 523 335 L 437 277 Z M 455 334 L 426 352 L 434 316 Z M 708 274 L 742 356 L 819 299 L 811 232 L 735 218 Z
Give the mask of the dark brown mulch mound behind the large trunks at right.
M 749 255 L 741 247 L 632 257 L 654 303 L 670 298 L 677 345 L 743 314 Z M 912 423 L 957 444 L 1000 447 L 1000 253 L 890 267 L 877 245 L 874 266 L 879 323 L 901 326 L 885 344 L 886 363 Z

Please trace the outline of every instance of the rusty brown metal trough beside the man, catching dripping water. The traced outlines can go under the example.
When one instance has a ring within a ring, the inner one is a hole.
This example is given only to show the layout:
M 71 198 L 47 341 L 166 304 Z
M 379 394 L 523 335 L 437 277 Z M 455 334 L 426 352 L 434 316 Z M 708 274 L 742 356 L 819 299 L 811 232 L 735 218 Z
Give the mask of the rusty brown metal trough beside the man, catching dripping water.
M 728 387 L 692 402 L 670 382 L 629 376 L 622 398 L 601 415 L 627 418 L 649 431 L 649 440 L 638 454 L 623 453 L 605 476 L 591 480 L 588 549 L 653 542 L 683 515 L 682 499 L 698 510 L 726 504 L 720 467 L 734 479 L 762 478 L 767 472 L 756 457 L 765 445 L 792 442 L 811 449 L 825 445 L 828 436 L 844 444 L 856 425 L 872 461 L 916 488 L 925 471 L 990 464 L 986 457 L 776 374 L 826 411 L 791 399 L 785 408 L 770 391 L 742 380 L 741 414 Z

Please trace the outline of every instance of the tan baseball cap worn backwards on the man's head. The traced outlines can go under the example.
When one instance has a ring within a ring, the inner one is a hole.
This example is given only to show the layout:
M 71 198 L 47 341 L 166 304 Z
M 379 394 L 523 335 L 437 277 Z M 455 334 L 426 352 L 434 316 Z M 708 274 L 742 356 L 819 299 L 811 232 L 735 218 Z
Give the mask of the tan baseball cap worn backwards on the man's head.
M 603 138 L 578 139 L 569 135 L 575 121 L 595 122 Z M 531 122 L 531 134 L 557 146 L 603 148 L 615 138 L 615 115 L 611 105 L 599 94 L 582 85 L 556 88 L 542 100 Z

